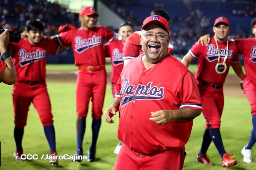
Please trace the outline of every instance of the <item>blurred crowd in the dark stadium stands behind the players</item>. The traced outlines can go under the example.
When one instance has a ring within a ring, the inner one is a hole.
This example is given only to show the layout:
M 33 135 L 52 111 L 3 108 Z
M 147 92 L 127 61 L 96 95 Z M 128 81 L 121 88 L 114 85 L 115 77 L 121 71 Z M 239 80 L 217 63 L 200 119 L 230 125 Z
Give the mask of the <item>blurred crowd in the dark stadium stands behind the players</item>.
M 133 10 L 125 10 L 124 6 L 143 6 L 147 3 L 146 0 L 102 0 L 114 12 L 121 16 L 125 21 L 130 21 L 135 27 L 135 30 L 140 30 L 142 19 L 134 17 Z M 152 9 L 164 8 L 163 4 L 152 4 Z M 253 6 L 248 6 L 245 9 L 234 9 L 233 15 L 236 16 L 256 16 L 256 2 Z M 26 21 L 30 18 L 40 19 L 45 23 L 44 34 L 52 36 L 58 34 L 60 25 L 70 23 L 75 27 L 79 27 L 78 14 L 70 13 L 66 8 L 60 6 L 58 1 L 51 3 L 47 0 L 0 0 L 0 27 L 8 28 L 10 31 L 22 32 Z M 199 23 L 196 22 L 199 19 Z M 195 41 L 202 35 L 212 33 L 210 24 L 211 18 L 202 14 L 202 11 L 196 9 L 191 12 L 190 16 L 174 16 L 171 17 L 170 35 L 171 43 L 174 45 L 173 54 L 184 55 Z M 118 30 L 113 30 L 118 31 Z M 246 38 L 251 34 L 233 34 L 229 38 Z

